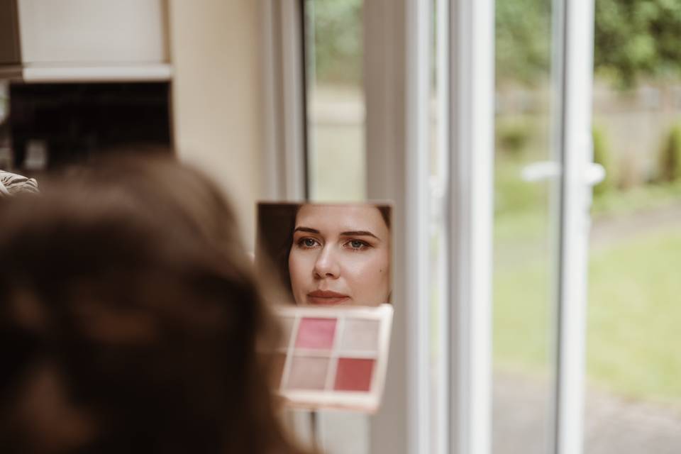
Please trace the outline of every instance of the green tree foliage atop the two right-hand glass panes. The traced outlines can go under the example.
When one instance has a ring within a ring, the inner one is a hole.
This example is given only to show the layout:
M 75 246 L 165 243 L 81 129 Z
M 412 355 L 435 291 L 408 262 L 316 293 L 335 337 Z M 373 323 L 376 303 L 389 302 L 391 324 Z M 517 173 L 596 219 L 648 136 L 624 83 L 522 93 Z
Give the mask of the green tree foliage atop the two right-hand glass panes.
M 547 77 L 550 0 L 497 0 L 497 77 Z M 681 76 L 681 0 L 595 0 L 594 70 L 622 89 Z

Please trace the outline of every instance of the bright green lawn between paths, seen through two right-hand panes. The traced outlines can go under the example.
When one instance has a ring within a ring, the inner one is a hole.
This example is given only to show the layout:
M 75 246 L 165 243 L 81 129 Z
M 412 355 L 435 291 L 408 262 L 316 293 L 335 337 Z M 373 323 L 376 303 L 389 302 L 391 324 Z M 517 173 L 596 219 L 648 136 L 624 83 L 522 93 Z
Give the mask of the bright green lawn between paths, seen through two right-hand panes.
M 536 374 L 548 371 L 553 360 L 555 272 L 546 247 L 547 216 L 535 211 L 497 217 L 497 367 Z M 538 238 L 534 245 L 531 236 Z M 592 384 L 628 397 L 681 404 L 680 265 L 681 232 L 672 229 L 592 251 L 587 321 Z

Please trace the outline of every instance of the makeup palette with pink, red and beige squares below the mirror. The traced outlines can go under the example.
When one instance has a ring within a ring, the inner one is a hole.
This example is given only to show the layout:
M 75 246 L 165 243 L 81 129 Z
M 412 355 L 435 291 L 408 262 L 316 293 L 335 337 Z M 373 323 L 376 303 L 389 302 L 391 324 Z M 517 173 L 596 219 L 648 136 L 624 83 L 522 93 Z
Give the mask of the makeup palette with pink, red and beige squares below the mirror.
M 275 386 L 287 405 L 304 409 L 378 409 L 388 360 L 392 305 L 290 306 Z

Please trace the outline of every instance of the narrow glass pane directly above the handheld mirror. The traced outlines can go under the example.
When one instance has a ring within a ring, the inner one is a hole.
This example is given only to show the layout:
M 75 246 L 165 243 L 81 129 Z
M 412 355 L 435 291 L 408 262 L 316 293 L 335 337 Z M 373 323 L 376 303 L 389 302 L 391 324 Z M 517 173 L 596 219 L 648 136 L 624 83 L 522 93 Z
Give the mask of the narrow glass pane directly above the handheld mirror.
M 305 1 L 311 199 L 365 199 L 362 0 Z

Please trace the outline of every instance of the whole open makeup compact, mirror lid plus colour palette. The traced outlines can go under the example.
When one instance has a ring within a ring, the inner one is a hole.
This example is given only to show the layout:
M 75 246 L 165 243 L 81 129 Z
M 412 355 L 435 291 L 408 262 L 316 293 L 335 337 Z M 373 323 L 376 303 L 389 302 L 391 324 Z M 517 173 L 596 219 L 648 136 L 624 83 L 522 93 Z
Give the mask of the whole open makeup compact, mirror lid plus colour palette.
M 288 406 L 373 413 L 387 370 L 391 208 L 258 204 L 260 276 L 279 301 L 273 386 Z

